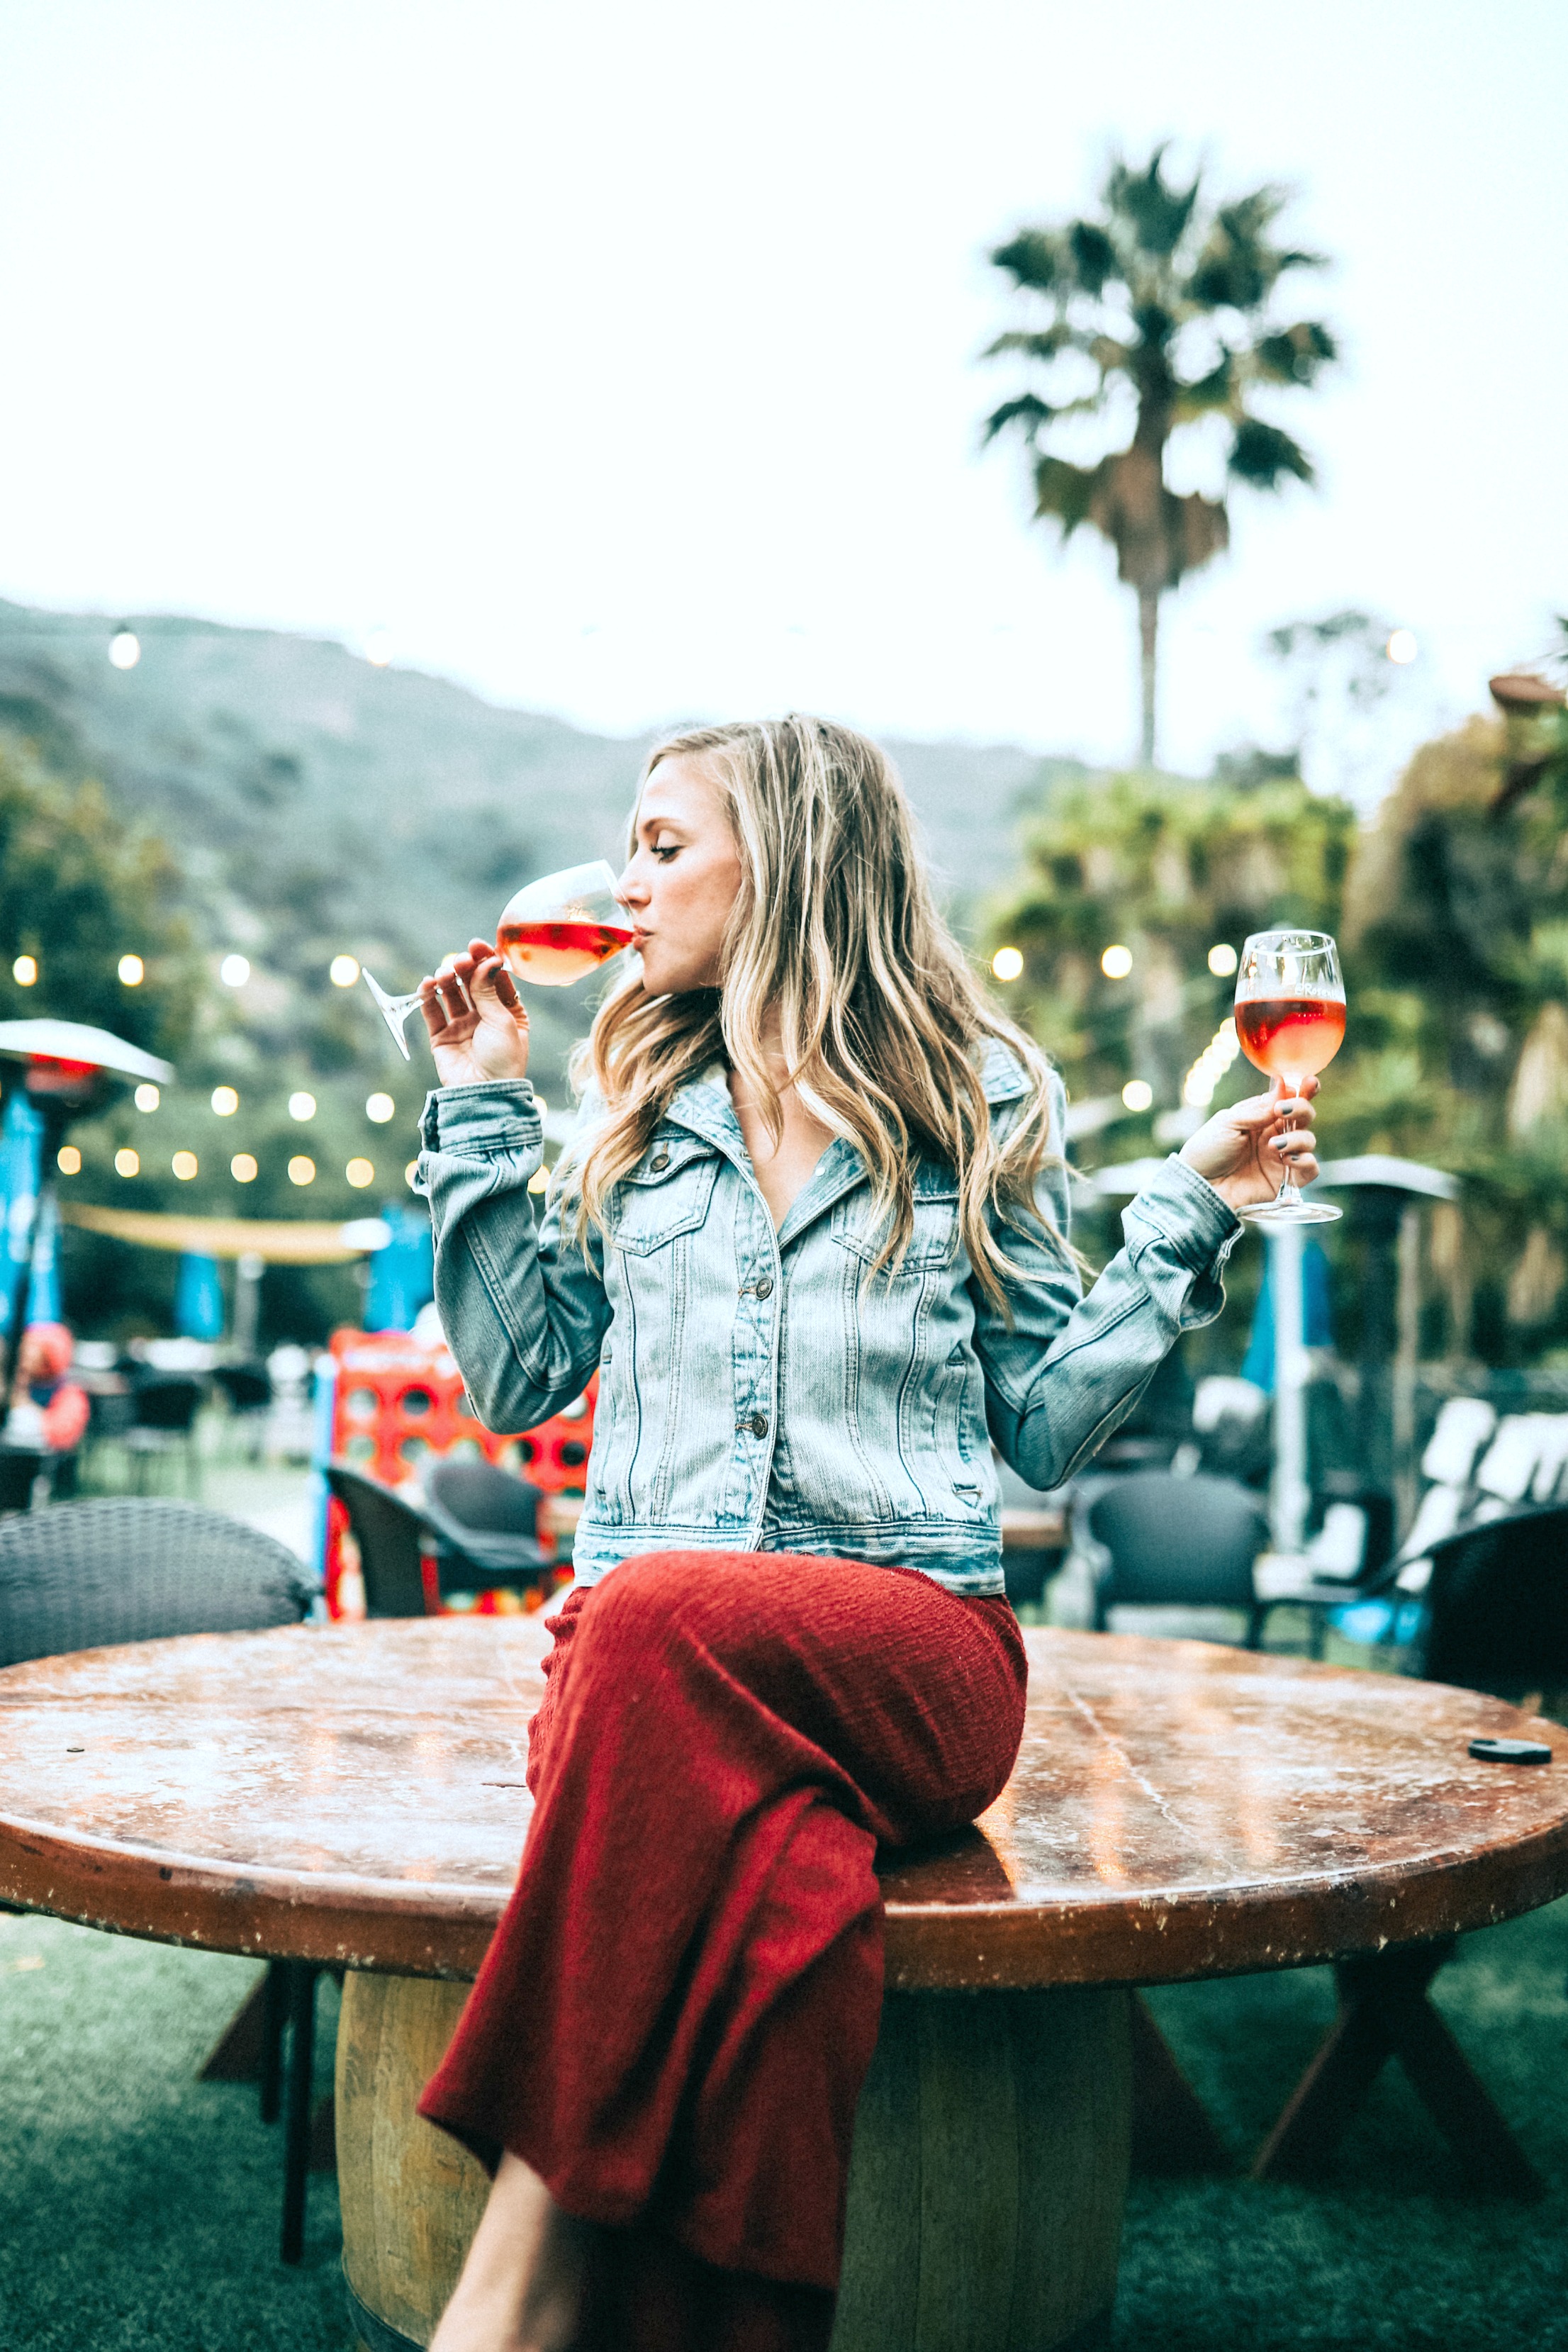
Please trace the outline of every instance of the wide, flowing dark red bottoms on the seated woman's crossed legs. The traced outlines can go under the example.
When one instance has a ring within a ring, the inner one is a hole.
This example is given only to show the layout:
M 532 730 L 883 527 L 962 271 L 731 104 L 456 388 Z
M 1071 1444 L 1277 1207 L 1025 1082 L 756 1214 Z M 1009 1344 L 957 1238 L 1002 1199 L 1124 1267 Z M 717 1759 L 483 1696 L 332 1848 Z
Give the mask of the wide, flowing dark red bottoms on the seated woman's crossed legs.
M 550 1628 L 522 1872 L 421 2114 L 607 2225 L 592 2340 L 825 2347 L 877 1846 L 1006 1785 L 1018 1623 L 912 1569 L 658 1552 Z

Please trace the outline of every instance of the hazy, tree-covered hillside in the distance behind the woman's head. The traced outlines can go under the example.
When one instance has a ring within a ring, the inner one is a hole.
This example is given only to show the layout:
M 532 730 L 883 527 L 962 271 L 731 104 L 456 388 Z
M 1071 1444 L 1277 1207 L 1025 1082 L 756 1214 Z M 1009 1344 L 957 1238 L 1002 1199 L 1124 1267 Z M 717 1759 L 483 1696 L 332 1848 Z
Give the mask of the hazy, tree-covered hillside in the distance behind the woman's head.
M 174 847 L 202 943 L 242 948 L 275 983 L 252 1028 L 268 1025 L 270 1002 L 280 1047 L 320 1033 L 317 1070 L 381 1054 L 360 995 L 355 1018 L 336 1007 L 320 1030 L 313 1000 L 331 995 L 334 953 L 407 985 L 489 929 L 522 880 L 583 856 L 621 861 L 644 739 L 503 710 L 315 637 L 129 626 L 141 661 L 115 670 L 108 619 L 0 602 L 0 729 L 61 776 L 101 779 L 127 821 Z M 1013 807 L 1041 762 L 1009 746 L 889 748 L 961 917 L 1006 877 Z M 541 1002 L 550 1063 L 581 1025 L 576 995 Z

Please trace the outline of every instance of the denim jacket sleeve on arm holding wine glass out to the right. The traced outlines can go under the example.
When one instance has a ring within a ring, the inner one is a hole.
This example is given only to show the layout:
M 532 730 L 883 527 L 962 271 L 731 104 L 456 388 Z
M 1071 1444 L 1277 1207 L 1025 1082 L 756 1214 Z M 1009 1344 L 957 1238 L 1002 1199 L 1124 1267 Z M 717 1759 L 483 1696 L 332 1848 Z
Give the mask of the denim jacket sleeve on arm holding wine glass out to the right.
M 997 1124 L 1013 1115 L 997 1108 Z M 1065 1096 L 1053 1080 L 1051 1131 Z M 1182 1331 L 1225 1305 L 1225 1258 L 1241 1221 L 1185 1160 L 1121 1211 L 1124 1247 L 1084 1296 L 1067 1235 L 1067 1171 L 1041 1169 L 1037 1202 L 1053 1232 L 1004 1225 L 997 1242 L 1018 1268 L 1006 1282 L 1011 1327 L 971 1279 L 985 1414 L 1004 1456 L 1030 1486 L 1060 1486 L 1126 1421 Z

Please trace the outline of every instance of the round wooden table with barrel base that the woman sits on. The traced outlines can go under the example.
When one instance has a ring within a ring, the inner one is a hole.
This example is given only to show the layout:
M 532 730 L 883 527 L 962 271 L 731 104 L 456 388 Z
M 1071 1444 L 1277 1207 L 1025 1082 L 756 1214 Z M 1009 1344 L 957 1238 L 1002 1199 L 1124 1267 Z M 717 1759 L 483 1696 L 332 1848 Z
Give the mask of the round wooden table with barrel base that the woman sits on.
M 1011 1785 L 884 1870 L 889 1999 L 835 2352 L 1105 2340 L 1133 1985 L 1420 1945 L 1568 1889 L 1563 1743 L 1500 1700 L 1197 1642 L 1030 1632 Z M 0 1672 L 0 1898 L 346 1966 L 343 2263 L 430 2338 L 484 2178 L 414 2117 L 529 1820 L 536 1618 L 200 1635 Z

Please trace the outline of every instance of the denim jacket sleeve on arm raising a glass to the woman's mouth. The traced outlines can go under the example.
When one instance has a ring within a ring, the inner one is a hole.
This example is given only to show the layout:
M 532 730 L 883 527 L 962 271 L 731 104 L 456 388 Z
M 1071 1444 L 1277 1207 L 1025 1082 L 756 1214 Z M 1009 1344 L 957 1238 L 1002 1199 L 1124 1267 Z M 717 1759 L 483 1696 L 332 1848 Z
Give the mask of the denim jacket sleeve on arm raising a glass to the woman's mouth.
M 590 1105 L 583 1105 L 588 1120 Z M 543 1124 L 527 1080 L 437 1087 L 416 1190 L 430 1202 L 435 1303 L 489 1430 L 531 1430 L 583 1395 L 609 1324 L 604 1244 L 562 1230 L 562 1192 L 529 1192 Z

